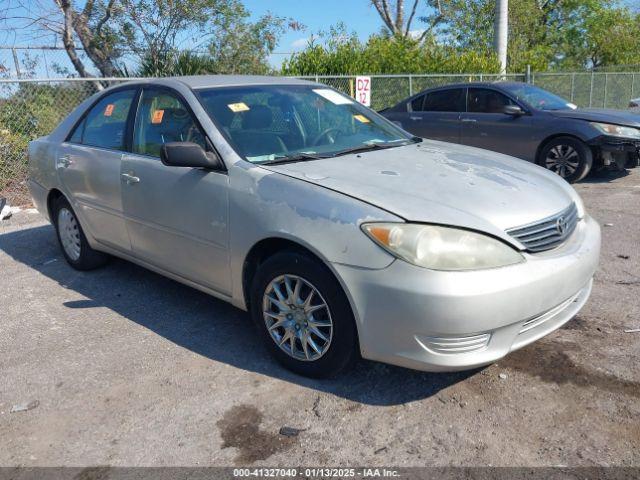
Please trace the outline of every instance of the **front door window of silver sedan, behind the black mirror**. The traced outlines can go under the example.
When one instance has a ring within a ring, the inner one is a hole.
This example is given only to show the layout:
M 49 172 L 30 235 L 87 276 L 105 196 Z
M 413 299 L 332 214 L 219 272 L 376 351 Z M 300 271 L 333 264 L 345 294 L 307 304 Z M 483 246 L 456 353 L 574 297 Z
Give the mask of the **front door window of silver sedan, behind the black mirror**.
M 204 134 L 185 104 L 165 90 L 143 90 L 133 132 L 133 152 L 160 156 L 169 142 L 193 142 L 207 148 Z

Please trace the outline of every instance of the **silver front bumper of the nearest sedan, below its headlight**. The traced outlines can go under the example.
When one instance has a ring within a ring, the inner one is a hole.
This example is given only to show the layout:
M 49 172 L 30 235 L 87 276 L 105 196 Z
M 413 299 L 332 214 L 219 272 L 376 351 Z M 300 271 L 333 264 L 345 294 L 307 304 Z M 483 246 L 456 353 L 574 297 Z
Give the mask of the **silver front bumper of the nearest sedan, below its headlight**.
M 582 219 L 560 247 L 509 267 L 437 272 L 397 260 L 334 265 L 347 286 L 364 358 L 426 371 L 492 363 L 558 329 L 589 298 L 600 227 Z

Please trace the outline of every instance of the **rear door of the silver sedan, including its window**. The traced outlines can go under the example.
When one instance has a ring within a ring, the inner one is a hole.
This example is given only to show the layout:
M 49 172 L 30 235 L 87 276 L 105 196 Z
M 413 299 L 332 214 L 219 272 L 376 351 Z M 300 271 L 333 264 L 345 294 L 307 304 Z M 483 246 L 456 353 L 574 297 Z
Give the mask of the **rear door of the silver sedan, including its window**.
M 56 171 L 83 227 L 100 243 L 128 252 L 120 167 L 135 88 L 102 97 L 57 151 Z

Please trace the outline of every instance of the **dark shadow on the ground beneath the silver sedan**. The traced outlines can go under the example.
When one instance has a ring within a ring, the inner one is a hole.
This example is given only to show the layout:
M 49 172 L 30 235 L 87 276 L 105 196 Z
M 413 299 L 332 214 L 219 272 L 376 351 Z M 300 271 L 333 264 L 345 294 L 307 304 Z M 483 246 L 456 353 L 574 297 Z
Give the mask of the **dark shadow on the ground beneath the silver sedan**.
M 65 302 L 67 308 L 106 307 L 204 357 L 355 402 L 395 405 L 423 399 L 477 372 L 432 374 L 363 360 L 335 379 L 310 380 L 276 364 L 249 315 L 226 302 L 123 260 L 93 272 L 73 270 L 51 226 L 0 235 L 0 250 L 85 297 Z

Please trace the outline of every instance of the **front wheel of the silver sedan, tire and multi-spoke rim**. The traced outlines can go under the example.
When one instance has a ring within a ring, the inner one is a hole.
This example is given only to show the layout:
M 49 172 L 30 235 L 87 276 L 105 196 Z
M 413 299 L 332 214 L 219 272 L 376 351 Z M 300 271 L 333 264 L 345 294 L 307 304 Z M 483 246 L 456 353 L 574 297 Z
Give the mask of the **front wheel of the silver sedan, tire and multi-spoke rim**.
M 315 292 L 305 309 L 304 301 L 312 289 Z M 267 299 L 267 295 L 277 301 Z M 260 337 L 285 368 L 306 377 L 327 378 L 344 371 L 358 358 L 351 306 L 340 284 L 319 261 L 294 252 L 274 255 L 258 267 L 250 300 L 251 317 Z M 311 340 L 303 341 L 307 338 Z M 283 340 L 280 347 L 277 342 Z

